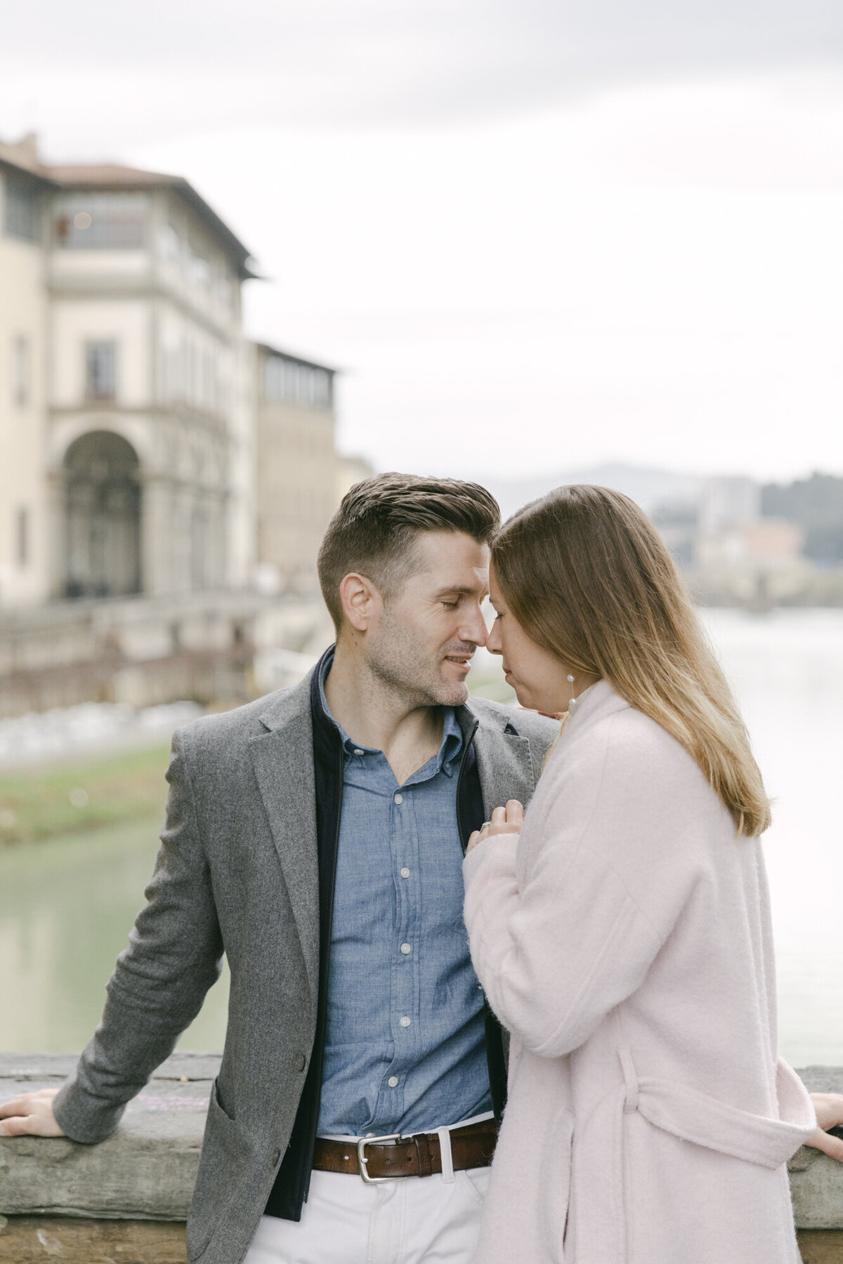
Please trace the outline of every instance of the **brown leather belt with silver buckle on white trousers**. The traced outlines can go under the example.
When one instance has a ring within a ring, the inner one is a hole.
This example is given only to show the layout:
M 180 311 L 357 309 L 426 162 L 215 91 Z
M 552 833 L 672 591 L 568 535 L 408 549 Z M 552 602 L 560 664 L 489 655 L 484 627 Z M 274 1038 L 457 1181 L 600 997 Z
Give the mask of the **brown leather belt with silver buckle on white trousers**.
M 451 1158 L 455 1172 L 466 1168 L 488 1168 L 498 1139 L 493 1119 L 468 1124 L 451 1131 Z M 397 1177 L 430 1177 L 442 1170 L 442 1154 L 436 1133 L 415 1133 L 412 1136 L 364 1136 L 355 1141 L 329 1141 L 316 1138 L 313 1167 L 318 1172 L 348 1172 L 374 1181 Z

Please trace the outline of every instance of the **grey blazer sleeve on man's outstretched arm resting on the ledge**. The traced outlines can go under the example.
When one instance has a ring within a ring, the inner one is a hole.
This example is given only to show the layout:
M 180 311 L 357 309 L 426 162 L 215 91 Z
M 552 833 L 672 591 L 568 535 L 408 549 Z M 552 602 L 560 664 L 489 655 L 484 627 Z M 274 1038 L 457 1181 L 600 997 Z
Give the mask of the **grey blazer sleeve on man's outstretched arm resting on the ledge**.
M 101 1141 L 114 1131 L 126 1102 L 172 1053 L 220 975 L 222 939 L 188 746 L 188 731 L 173 734 L 167 819 L 148 902 L 118 957 L 102 1019 L 54 1098 L 56 1119 L 75 1141 Z

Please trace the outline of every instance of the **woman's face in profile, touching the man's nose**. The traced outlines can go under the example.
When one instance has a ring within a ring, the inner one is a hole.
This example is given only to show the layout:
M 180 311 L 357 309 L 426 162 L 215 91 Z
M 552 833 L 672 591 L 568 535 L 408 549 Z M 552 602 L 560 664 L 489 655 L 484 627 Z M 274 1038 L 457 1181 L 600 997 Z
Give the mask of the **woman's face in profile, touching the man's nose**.
M 514 614 L 507 609 L 494 568 L 489 571 L 489 599 L 497 618 L 492 624 L 487 648 L 503 657 L 507 683 L 512 685 L 522 707 L 551 715 L 567 710 L 567 703 L 591 684 L 593 678 L 567 680 L 570 669 L 531 641 Z M 579 686 L 579 688 L 578 688 Z

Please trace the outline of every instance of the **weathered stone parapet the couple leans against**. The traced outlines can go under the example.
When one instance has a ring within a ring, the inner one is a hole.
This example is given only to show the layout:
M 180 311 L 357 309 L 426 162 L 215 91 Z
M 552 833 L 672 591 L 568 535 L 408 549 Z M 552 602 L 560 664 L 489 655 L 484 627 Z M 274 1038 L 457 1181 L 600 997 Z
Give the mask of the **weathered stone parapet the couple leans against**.
M 0 1101 L 57 1087 L 75 1062 L 0 1054 Z M 100 1145 L 1 1141 L 1 1264 L 183 1264 L 183 1222 L 219 1062 L 203 1053 L 169 1058 Z M 799 1074 L 814 1092 L 843 1092 L 843 1067 Z M 790 1184 L 805 1264 L 843 1264 L 843 1164 L 801 1149 Z

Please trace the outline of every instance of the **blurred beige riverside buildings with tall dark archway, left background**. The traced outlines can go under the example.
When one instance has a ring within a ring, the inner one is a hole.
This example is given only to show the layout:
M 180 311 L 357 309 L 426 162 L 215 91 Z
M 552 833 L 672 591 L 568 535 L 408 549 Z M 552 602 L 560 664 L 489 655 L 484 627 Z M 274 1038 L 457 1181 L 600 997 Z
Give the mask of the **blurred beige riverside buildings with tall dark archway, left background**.
M 244 339 L 252 276 L 181 177 L 0 144 L 0 607 L 313 589 L 334 370 Z

